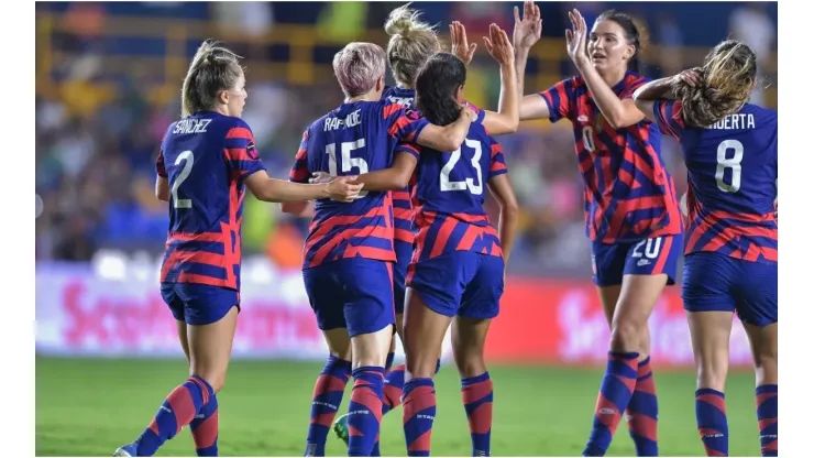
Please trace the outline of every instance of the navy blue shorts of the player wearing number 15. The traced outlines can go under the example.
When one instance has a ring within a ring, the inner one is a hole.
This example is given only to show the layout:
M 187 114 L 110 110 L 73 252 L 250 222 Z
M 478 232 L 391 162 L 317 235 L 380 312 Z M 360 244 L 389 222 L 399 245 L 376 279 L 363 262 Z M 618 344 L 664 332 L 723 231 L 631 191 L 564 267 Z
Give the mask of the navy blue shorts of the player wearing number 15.
M 341 259 L 304 269 L 302 279 L 321 330 L 346 328 L 354 337 L 396 323 L 392 262 Z

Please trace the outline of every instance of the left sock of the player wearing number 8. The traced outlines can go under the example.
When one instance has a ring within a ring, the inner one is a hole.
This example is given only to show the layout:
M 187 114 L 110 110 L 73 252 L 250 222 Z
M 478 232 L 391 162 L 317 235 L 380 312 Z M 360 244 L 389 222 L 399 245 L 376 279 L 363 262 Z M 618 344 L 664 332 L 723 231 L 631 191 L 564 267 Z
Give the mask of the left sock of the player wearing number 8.
M 707 457 L 729 456 L 729 425 L 724 393 L 711 388 L 695 392 L 695 422 Z

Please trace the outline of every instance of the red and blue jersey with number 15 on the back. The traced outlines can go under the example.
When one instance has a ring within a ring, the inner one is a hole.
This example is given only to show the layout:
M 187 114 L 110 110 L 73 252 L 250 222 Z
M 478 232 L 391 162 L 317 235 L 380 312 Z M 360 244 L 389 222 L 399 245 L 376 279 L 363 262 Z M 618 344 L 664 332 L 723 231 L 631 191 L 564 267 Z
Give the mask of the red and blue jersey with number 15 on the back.
M 398 143 L 417 139 L 427 124 L 386 100 L 342 103 L 305 131 L 289 179 L 307 183 L 315 172 L 342 176 L 387 168 Z M 389 192 L 365 192 L 350 204 L 319 199 L 304 266 L 355 257 L 395 261 L 393 226 Z

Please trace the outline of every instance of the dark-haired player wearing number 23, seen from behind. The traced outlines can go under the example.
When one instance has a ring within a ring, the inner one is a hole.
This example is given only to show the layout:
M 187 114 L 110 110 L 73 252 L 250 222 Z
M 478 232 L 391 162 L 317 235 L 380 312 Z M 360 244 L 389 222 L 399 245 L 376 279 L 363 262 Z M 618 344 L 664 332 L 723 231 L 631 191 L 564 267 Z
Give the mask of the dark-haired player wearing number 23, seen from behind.
M 493 24 L 485 43 L 504 77 L 514 75 L 514 50 L 506 33 Z M 450 123 L 461 110 L 455 100 L 462 99 L 465 81 L 466 67 L 460 58 L 436 54 L 416 80 L 417 108 L 432 122 Z M 410 456 L 428 456 L 430 450 L 436 414 L 432 375 L 450 324 L 473 456 L 490 454 L 492 381 L 483 351 L 491 319 L 497 316 L 518 215 L 503 152 L 486 133 L 484 118 L 480 111 L 459 149 L 402 145 L 404 154 L 391 168 L 359 178 L 367 189 L 393 189 L 405 186 L 415 171 L 418 235 L 404 323 L 404 427 Z M 498 231 L 483 208 L 484 184 L 501 204 Z

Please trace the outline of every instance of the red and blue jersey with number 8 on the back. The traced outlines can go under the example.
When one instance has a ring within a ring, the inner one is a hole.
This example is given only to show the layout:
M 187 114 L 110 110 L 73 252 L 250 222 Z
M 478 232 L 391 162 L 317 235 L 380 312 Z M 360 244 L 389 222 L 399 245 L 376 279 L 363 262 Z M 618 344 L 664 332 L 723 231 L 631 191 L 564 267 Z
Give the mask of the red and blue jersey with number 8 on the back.
M 713 251 L 778 261 L 778 113 L 745 105 L 706 128 L 686 126 L 681 101 L 659 100 L 662 132 L 681 143 L 688 168 L 684 253 Z

